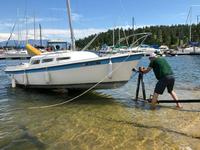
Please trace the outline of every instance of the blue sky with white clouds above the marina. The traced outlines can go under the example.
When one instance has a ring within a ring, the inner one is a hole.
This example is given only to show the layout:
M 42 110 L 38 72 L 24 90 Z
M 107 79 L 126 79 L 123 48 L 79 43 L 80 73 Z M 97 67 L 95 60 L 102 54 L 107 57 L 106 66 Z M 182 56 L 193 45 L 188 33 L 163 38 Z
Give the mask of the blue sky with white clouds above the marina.
M 135 28 L 151 25 L 174 25 L 200 20 L 200 0 L 71 0 L 72 25 L 75 38 L 104 32 L 117 27 Z M 1 0 L 0 41 L 39 39 L 39 24 L 43 39 L 69 41 L 66 0 Z M 27 18 L 27 19 L 26 19 Z M 190 17 L 189 17 L 190 18 Z M 26 24 L 27 20 L 27 24 Z M 27 29 L 27 30 L 26 30 Z

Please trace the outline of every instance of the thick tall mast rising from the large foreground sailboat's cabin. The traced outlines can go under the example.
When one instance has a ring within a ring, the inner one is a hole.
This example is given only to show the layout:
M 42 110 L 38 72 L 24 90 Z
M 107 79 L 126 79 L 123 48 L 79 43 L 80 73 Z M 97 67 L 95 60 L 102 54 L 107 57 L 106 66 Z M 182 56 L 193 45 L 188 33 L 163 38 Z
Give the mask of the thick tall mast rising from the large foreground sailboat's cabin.
M 69 27 L 70 27 L 70 33 L 71 33 L 71 49 L 74 51 L 76 49 L 76 46 L 75 46 L 75 40 L 74 40 L 74 32 L 73 32 L 73 28 L 72 28 L 70 1 L 66 0 L 66 2 L 67 2 L 67 13 L 68 13 L 68 19 L 69 19 Z

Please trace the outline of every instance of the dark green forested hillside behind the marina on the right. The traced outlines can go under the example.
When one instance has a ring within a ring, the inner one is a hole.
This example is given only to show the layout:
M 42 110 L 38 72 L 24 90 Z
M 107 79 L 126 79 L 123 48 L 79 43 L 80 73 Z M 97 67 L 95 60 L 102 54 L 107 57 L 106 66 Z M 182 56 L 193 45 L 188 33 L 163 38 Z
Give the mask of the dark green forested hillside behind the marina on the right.
M 190 32 L 191 28 L 191 32 Z M 176 49 L 177 47 L 187 47 L 190 42 L 200 42 L 200 24 L 189 25 L 160 25 L 160 26 L 150 26 L 143 27 L 138 29 L 122 29 L 117 28 L 109 29 L 107 32 L 102 32 L 98 35 L 98 37 L 94 40 L 94 42 L 90 45 L 89 49 L 99 50 L 102 45 L 106 44 L 109 46 L 113 45 L 113 37 L 114 37 L 114 45 L 118 46 L 130 46 L 136 37 L 127 38 L 127 41 L 124 40 L 119 42 L 120 38 L 128 37 L 129 35 L 137 34 L 137 33 L 151 33 L 144 42 L 144 44 L 148 45 L 167 45 L 169 48 Z M 114 34 L 113 34 L 114 33 Z M 190 34 L 191 33 L 191 34 Z M 114 35 L 114 36 L 113 36 Z M 191 36 L 190 36 L 191 35 Z M 76 46 L 78 49 L 84 48 L 96 34 L 90 35 L 83 39 L 79 39 L 76 41 Z M 138 43 L 139 44 L 139 43 Z

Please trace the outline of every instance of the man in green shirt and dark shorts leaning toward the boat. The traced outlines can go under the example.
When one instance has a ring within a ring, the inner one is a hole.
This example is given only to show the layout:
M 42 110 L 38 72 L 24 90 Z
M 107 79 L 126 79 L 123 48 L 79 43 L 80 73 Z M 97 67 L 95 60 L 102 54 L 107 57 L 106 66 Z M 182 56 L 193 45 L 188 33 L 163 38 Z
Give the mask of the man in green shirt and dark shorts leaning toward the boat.
M 159 94 L 163 94 L 165 88 L 167 87 L 168 93 L 172 96 L 173 100 L 176 101 L 176 106 L 178 108 L 181 108 L 182 106 L 178 103 L 178 97 L 173 91 L 175 78 L 173 76 L 173 72 L 170 65 L 164 58 L 157 57 L 155 53 L 150 54 L 149 60 L 150 64 L 148 68 L 142 67 L 140 71 L 142 73 L 148 73 L 153 69 L 154 74 L 158 79 L 151 101 L 152 104 L 155 105 L 157 103 Z

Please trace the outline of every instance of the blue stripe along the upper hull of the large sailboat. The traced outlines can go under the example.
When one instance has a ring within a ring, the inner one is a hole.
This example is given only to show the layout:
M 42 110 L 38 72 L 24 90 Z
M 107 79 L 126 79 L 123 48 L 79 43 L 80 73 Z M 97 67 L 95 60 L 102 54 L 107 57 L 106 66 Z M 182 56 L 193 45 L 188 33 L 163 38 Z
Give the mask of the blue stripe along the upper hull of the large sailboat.
M 136 55 L 130 55 L 128 56 L 122 56 L 122 57 L 116 57 L 111 58 L 112 63 L 120 63 L 125 60 L 127 61 L 133 61 L 133 60 L 139 60 L 143 54 L 136 54 Z M 128 57 L 128 59 L 126 59 Z M 64 64 L 59 66 L 50 66 L 50 67 L 43 67 L 43 68 L 36 68 L 36 69 L 27 69 L 25 70 L 25 73 L 35 73 L 35 72 L 43 72 L 48 69 L 48 71 L 56 71 L 56 70 L 63 70 L 63 69 L 72 69 L 72 68 L 80 68 L 80 67 L 88 67 L 93 65 L 104 65 L 108 64 L 110 61 L 110 58 L 102 59 L 102 60 L 95 60 L 95 61 L 87 61 L 87 62 L 81 62 L 81 63 L 73 63 L 73 64 Z M 24 73 L 24 70 L 19 71 L 6 71 L 7 74 L 22 74 Z

